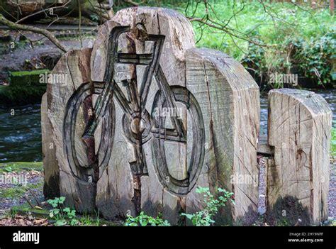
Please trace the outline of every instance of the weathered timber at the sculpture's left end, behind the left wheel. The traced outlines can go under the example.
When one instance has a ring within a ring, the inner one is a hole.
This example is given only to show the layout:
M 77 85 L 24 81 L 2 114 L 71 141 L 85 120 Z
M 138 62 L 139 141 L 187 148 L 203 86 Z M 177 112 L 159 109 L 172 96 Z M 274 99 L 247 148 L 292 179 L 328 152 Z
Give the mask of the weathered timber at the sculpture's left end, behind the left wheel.
M 80 169 L 71 167 L 65 152 L 65 111 L 67 102 L 83 83 L 89 82 L 90 49 L 73 50 L 63 55 L 52 70 L 52 81 L 47 84 L 48 117 L 52 124 L 52 135 L 56 147 L 56 157 L 60 167 L 60 195 L 66 197 L 66 205 L 78 211 L 93 211 L 95 208 L 96 183 L 89 182 L 88 175 Z M 80 106 L 81 109 L 84 106 Z M 83 110 L 77 116 L 77 123 L 83 122 Z M 67 137 L 67 136 L 66 136 Z M 84 144 L 77 135 L 75 146 L 82 164 L 87 162 Z M 87 173 L 90 172 L 86 170 Z

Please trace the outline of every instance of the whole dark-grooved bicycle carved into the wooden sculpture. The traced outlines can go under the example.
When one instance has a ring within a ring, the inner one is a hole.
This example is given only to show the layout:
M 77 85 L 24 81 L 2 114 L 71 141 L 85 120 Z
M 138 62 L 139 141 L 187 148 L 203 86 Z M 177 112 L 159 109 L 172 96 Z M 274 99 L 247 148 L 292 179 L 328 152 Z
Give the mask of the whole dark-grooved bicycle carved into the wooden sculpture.
M 187 194 L 194 187 L 203 165 L 203 117 L 188 89 L 168 84 L 159 65 L 163 45 L 163 35 L 148 35 L 140 23 L 134 29 L 113 28 L 104 82 L 82 84 L 67 102 L 63 140 L 75 177 L 98 182 L 110 158 L 113 160 L 115 98 L 123 111 L 123 135 L 134 154 L 130 160 L 133 178 L 140 181 L 141 176 L 148 174 L 143 145 L 151 143 L 150 163 L 161 184 L 174 194 Z M 158 90 L 152 102 L 147 103 L 152 84 Z M 82 141 L 87 148 L 88 163 L 82 165 L 74 135 L 79 108 L 86 102 L 90 103 L 86 110 L 91 113 L 86 118 Z M 96 150 L 95 132 L 99 125 L 101 139 Z M 170 162 L 169 157 L 176 152 L 179 159 Z

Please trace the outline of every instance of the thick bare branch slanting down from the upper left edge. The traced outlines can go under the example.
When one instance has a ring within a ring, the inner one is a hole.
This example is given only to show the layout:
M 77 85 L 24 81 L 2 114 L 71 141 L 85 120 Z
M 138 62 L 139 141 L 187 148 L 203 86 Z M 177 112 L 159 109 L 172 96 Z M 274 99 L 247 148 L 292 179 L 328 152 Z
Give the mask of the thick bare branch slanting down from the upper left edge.
M 18 30 L 18 31 L 30 31 L 33 33 L 39 33 L 41 35 L 44 35 L 46 38 L 48 38 L 52 43 L 55 44 L 57 48 L 60 48 L 63 52 L 67 52 L 67 48 L 60 43 L 59 40 L 50 33 L 49 31 L 43 29 L 43 28 L 36 28 L 33 26 L 28 26 L 28 25 L 23 25 L 23 24 L 18 24 L 18 23 L 13 23 L 12 21 L 7 20 L 2 14 L 0 14 L 0 23 L 4 24 L 5 26 L 8 26 L 9 28 L 13 30 Z

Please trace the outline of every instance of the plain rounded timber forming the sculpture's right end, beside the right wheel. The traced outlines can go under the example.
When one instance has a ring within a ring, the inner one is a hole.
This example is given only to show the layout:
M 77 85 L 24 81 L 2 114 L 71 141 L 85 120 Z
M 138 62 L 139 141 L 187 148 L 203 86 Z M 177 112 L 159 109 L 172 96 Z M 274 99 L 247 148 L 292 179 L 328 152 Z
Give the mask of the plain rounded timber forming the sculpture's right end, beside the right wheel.
M 222 222 L 250 224 L 258 204 L 259 87 L 233 58 L 209 49 L 186 52 L 186 79 L 202 111 L 206 134 L 204 177 L 197 185 L 212 190 L 219 185 L 233 192 L 237 205 L 220 213 Z M 240 182 L 241 178 L 250 181 Z M 187 212 L 195 210 L 189 201 L 187 197 Z

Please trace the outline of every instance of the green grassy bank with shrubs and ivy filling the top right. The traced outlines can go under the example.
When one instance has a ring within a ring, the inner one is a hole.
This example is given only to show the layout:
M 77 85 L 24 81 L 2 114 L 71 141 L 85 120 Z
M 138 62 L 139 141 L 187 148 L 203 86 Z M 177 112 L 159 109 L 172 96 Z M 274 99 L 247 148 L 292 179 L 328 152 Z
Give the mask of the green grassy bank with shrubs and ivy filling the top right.
M 198 2 L 167 6 L 204 18 L 205 5 Z M 335 84 L 335 16 L 327 8 L 262 2 L 208 0 L 211 20 L 224 23 L 230 33 L 193 22 L 197 45 L 228 53 L 264 82 L 278 72 L 308 77 L 314 84 Z

